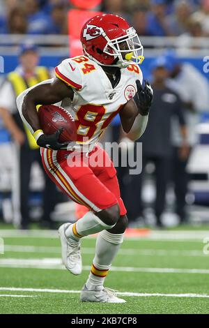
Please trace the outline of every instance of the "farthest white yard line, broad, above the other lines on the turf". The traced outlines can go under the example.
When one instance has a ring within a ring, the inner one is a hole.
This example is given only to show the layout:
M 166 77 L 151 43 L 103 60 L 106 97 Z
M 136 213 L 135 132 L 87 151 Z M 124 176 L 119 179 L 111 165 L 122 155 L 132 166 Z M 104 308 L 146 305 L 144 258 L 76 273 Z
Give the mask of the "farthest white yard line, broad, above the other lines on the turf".
M 49 238 L 57 239 L 56 230 L 1 230 L 0 237 L 8 238 Z M 154 240 L 154 241 L 202 241 L 203 238 L 209 237 L 206 230 L 187 230 L 187 231 L 151 231 L 148 234 L 139 237 L 127 237 L 129 240 Z M 91 237 L 92 238 L 92 237 Z M 93 237 L 95 238 L 95 237 Z

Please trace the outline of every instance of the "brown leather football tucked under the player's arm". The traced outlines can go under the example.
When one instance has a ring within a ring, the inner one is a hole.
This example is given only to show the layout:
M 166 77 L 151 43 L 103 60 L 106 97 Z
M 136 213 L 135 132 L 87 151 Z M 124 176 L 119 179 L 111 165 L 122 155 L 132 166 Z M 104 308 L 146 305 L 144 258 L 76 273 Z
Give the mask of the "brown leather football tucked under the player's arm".
M 63 107 L 42 105 L 38 108 L 38 117 L 42 131 L 46 135 L 52 135 L 59 128 L 63 128 L 63 131 L 59 135 L 59 142 L 76 140 L 75 120 Z

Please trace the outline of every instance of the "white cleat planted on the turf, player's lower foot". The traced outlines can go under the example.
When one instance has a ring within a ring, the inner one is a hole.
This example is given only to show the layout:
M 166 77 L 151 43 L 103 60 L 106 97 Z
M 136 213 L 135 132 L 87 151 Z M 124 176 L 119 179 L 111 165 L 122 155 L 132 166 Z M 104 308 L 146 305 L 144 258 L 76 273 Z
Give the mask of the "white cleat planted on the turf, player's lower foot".
M 88 290 L 86 285 L 82 289 L 81 301 L 102 302 L 102 303 L 125 303 L 125 299 L 119 299 L 116 290 L 110 288 L 100 288 L 95 286 L 95 290 Z

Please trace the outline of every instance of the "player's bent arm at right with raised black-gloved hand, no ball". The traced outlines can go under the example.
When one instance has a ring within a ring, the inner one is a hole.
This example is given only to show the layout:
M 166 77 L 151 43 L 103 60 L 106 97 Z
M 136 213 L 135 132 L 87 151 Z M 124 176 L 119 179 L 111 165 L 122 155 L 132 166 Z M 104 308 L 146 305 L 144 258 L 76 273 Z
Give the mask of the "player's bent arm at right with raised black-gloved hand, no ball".
M 148 82 L 142 89 L 139 80 L 137 94 L 129 100 L 120 112 L 121 124 L 131 140 L 137 140 L 144 133 L 148 122 L 148 112 L 153 100 L 153 89 Z

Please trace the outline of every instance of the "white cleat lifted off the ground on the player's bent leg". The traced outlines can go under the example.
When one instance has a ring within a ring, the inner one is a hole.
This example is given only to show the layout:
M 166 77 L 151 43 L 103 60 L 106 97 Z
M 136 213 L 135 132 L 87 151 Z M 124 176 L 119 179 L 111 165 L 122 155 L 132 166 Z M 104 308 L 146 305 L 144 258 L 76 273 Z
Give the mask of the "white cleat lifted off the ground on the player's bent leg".
M 64 223 L 59 227 L 59 237 L 61 240 L 62 259 L 65 268 L 72 274 L 82 273 L 82 256 L 80 249 L 80 241 L 75 241 L 65 236 L 67 230 L 72 223 Z

